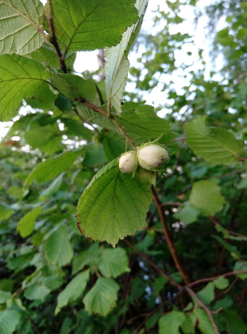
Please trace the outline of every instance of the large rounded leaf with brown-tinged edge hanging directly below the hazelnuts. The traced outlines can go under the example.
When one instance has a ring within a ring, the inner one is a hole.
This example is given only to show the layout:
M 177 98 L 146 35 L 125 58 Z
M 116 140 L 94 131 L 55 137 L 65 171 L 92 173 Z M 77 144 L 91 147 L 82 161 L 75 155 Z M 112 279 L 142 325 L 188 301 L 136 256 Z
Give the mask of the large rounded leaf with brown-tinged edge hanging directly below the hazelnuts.
M 146 223 L 151 190 L 131 174 L 122 174 L 118 161 L 104 166 L 81 195 L 77 226 L 82 234 L 111 243 L 134 234 Z

